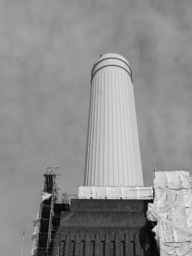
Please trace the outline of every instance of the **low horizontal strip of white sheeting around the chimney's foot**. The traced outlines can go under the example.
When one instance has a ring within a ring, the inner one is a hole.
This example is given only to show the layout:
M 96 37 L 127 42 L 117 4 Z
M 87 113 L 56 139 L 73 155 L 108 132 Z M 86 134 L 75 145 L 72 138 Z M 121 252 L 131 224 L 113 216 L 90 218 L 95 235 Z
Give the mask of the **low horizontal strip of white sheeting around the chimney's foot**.
M 152 199 L 153 188 L 142 186 L 79 186 L 81 199 Z

